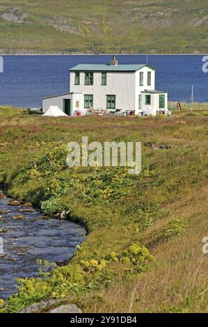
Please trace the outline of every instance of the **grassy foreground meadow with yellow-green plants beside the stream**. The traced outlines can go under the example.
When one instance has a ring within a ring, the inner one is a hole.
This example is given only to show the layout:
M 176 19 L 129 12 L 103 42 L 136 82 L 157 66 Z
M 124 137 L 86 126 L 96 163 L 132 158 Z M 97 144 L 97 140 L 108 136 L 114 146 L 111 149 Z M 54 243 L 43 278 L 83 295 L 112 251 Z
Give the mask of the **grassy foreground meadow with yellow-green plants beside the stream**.
M 18 280 L 1 312 L 49 298 L 83 312 L 207 312 L 207 113 L 43 118 L 1 107 L 1 188 L 46 215 L 70 210 L 88 230 L 70 264 Z M 81 136 L 141 141 L 142 173 L 68 168 L 65 145 Z

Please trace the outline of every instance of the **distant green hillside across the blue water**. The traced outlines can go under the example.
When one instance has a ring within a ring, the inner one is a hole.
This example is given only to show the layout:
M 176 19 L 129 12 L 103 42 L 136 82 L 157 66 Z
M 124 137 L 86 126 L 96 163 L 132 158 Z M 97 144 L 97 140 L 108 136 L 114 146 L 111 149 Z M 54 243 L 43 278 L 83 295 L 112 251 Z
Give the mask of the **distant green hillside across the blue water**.
M 1 52 L 207 53 L 207 1 L 0 1 Z

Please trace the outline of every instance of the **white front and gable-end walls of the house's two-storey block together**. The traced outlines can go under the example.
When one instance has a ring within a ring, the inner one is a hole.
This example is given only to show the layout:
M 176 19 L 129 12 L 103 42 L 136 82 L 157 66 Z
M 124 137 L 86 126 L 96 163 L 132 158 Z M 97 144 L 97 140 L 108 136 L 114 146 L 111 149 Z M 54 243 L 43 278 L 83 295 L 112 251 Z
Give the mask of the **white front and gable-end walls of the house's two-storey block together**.
M 143 86 L 140 73 L 143 72 Z M 147 85 L 147 72 L 151 72 L 151 85 Z M 117 109 L 138 111 L 138 95 L 155 88 L 155 71 L 150 67 L 136 72 L 107 72 L 107 85 L 102 86 L 102 72 L 94 72 L 93 86 L 85 85 L 85 72 L 80 72 L 80 85 L 74 85 L 75 72 L 70 72 L 70 91 L 93 95 L 93 106 L 106 109 L 106 95 L 115 95 Z

